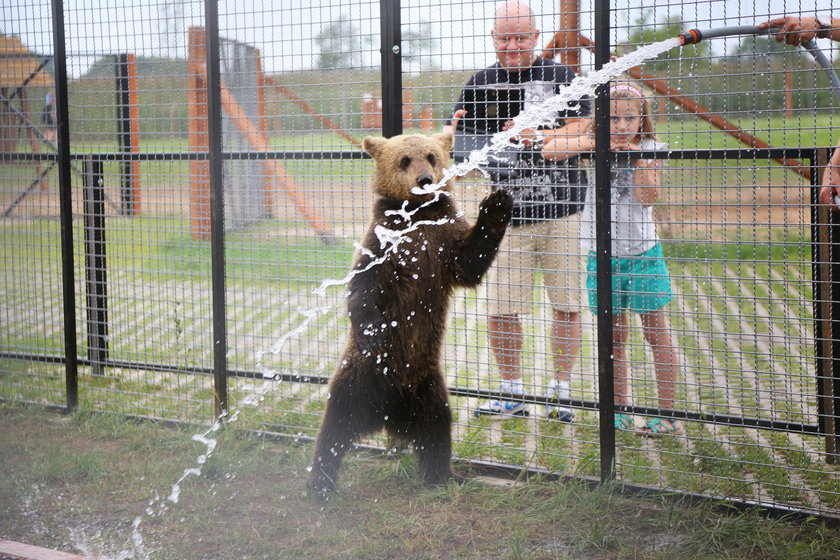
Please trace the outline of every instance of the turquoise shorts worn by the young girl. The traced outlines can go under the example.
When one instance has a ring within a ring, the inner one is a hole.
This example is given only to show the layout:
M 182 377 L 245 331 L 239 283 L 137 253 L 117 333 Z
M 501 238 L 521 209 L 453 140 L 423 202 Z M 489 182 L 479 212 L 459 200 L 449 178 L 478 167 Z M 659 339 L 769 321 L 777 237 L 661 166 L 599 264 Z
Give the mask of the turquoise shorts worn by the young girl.
M 597 315 L 596 269 L 595 253 L 590 251 L 586 261 L 586 289 L 589 295 L 589 309 Z M 613 258 L 612 272 L 614 313 L 656 311 L 674 298 L 668 268 L 662 255 L 662 245 L 659 243 L 641 255 Z

